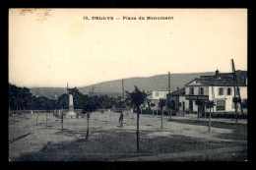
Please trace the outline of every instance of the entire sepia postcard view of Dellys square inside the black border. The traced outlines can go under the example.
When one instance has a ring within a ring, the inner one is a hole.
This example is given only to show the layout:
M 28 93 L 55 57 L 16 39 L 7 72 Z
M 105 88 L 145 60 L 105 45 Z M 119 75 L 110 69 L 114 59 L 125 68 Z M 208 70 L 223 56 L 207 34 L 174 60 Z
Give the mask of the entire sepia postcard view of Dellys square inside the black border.
M 9 162 L 247 161 L 246 8 L 9 8 Z

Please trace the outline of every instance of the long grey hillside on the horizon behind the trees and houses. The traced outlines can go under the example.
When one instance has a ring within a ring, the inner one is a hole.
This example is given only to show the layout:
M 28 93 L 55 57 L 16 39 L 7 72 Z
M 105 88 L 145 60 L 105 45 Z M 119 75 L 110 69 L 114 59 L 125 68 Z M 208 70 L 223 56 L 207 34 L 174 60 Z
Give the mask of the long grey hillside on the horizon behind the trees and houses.
M 189 83 L 195 78 L 199 78 L 200 76 L 208 76 L 214 75 L 213 72 L 207 73 L 192 73 L 192 74 L 171 74 L 170 75 L 170 90 L 175 90 L 177 87 L 181 88 L 185 84 Z M 125 90 L 133 90 L 134 85 L 137 85 L 140 89 L 144 90 L 167 90 L 168 87 L 168 76 L 166 75 L 158 75 L 149 78 L 130 78 L 124 79 L 124 89 Z M 88 85 L 78 87 L 79 90 L 88 94 L 92 92 L 93 86 L 95 92 L 100 93 L 119 93 L 121 95 L 122 92 L 122 82 L 121 80 L 104 82 L 96 85 Z M 66 92 L 65 87 L 32 87 L 32 94 L 35 96 L 46 96 L 48 98 L 55 98 L 56 95 L 61 95 Z

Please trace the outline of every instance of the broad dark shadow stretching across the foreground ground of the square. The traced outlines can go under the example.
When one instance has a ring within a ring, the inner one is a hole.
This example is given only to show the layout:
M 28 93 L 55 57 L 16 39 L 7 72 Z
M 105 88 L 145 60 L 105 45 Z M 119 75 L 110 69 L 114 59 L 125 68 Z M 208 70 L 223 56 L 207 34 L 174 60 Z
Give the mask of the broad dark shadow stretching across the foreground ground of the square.
M 19 161 L 111 161 L 135 156 L 175 153 L 182 151 L 204 150 L 226 146 L 241 145 L 235 142 L 207 142 L 184 137 L 147 138 L 149 132 L 140 134 L 140 151 L 136 151 L 136 133 L 118 130 L 90 132 L 89 140 L 85 140 L 86 131 L 69 131 L 57 135 L 81 135 L 73 142 L 48 142 L 39 152 L 23 154 Z M 213 159 L 215 157 L 212 157 Z

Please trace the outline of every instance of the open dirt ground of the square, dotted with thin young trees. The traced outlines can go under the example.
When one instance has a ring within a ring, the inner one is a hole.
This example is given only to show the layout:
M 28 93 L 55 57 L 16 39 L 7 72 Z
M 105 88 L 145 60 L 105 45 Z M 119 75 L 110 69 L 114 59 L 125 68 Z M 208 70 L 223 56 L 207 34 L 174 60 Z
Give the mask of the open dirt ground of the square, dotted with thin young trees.
M 10 161 L 244 161 L 247 159 L 247 121 L 140 115 L 140 150 L 136 150 L 137 115 L 92 114 L 89 140 L 87 119 L 60 119 L 41 113 L 9 117 Z M 134 119 L 133 119 L 134 118 Z

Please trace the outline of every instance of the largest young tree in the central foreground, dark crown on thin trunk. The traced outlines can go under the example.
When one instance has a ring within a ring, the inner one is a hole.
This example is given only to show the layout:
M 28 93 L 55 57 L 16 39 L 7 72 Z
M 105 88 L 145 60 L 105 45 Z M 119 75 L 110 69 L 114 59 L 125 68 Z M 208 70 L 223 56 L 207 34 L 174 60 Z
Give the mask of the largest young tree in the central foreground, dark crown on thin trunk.
M 140 139 L 140 106 L 144 104 L 145 99 L 147 98 L 147 93 L 143 90 L 141 91 L 136 85 L 135 89 L 132 92 L 127 91 L 128 96 L 131 99 L 131 104 L 137 108 L 137 151 L 139 151 L 139 139 Z

